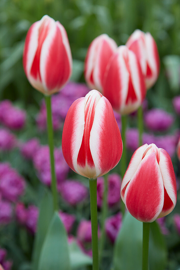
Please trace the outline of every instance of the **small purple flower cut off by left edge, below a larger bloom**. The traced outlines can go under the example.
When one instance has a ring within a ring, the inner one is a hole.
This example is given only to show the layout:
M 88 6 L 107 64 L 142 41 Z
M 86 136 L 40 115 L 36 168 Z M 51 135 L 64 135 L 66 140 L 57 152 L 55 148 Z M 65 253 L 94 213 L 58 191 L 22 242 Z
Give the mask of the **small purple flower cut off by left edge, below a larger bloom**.
M 11 222 L 12 206 L 7 201 L 0 201 L 0 224 Z

